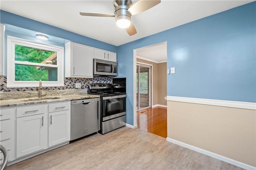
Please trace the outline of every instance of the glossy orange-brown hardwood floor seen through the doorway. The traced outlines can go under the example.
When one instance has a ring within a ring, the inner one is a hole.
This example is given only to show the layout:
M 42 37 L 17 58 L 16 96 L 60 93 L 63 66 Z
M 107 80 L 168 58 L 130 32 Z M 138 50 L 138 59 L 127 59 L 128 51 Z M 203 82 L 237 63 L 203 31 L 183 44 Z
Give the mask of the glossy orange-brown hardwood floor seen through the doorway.
M 167 137 L 167 108 L 153 107 L 137 111 L 138 129 Z

